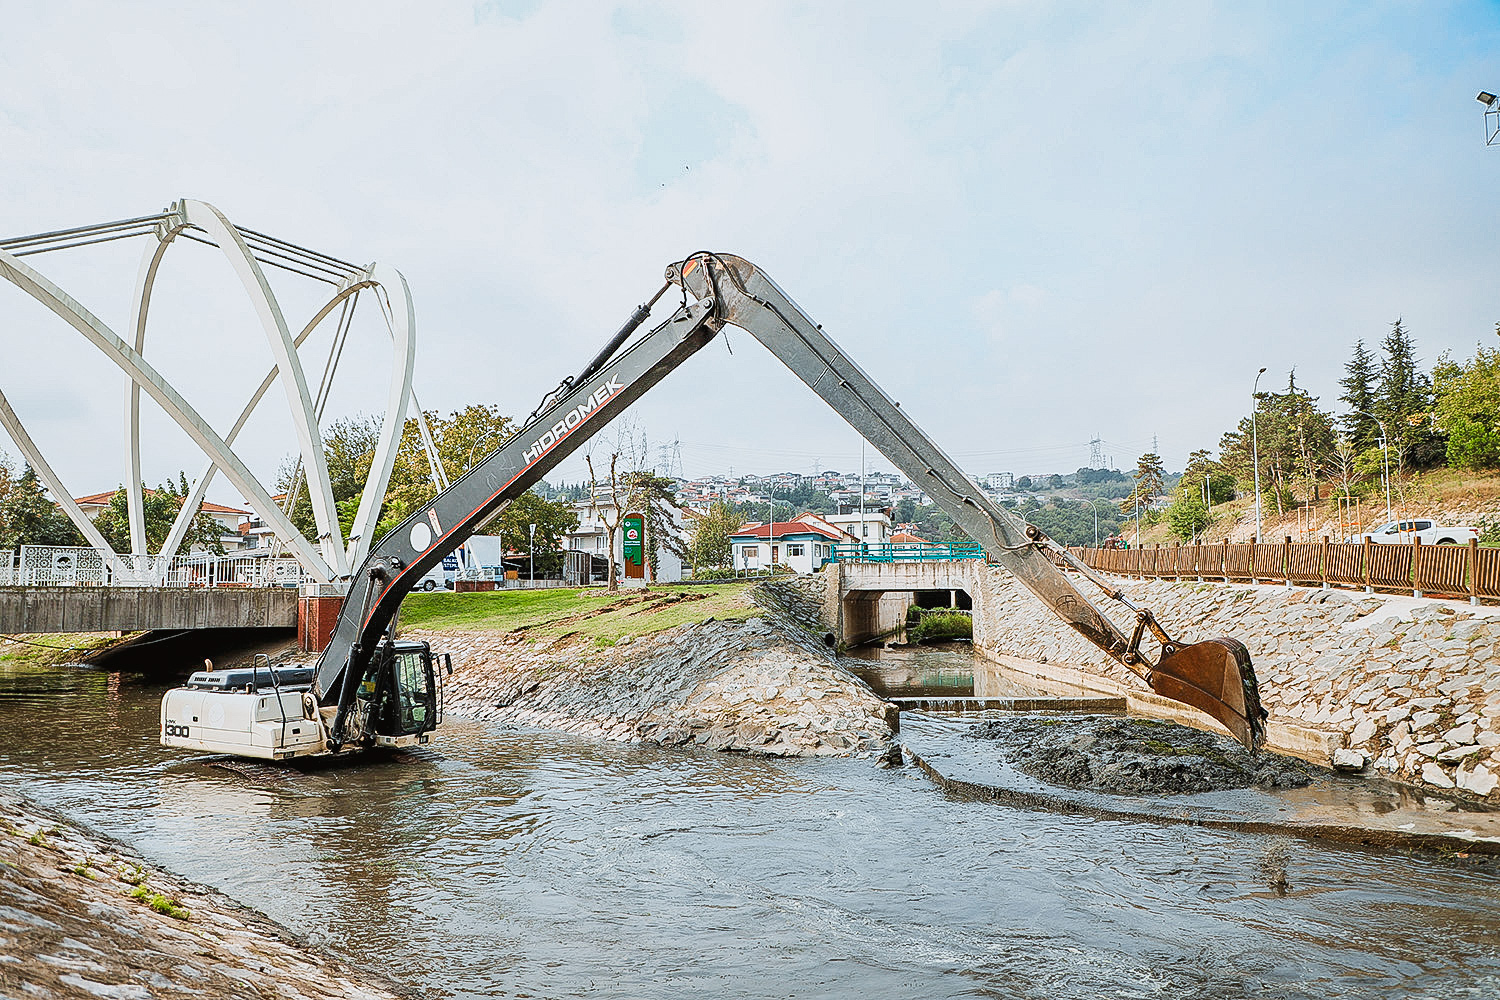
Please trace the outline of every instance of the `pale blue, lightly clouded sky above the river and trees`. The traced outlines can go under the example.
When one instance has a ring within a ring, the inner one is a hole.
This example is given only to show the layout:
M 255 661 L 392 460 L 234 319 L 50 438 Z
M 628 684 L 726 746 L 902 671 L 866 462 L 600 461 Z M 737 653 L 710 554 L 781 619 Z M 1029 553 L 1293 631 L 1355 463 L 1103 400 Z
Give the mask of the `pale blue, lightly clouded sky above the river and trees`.
M 1262 366 L 1336 409 L 1356 340 L 1401 319 L 1431 364 L 1500 322 L 1496 3 L 57 1 L 8 10 L 0 64 L 0 238 L 195 198 L 381 261 L 441 412 L 531 412 L 699 249 L 764 268 L 974 474 L 1070 472 L 1094 438 L 1182 468 Z M 142 250 L 27 262 L 126 331 Z M 294 327 L 326 295 L 270 277 Z M 390 354 L 357 313 L 327 418 L 380 412 Z M 220 432 L 270 366 L 210 247 L 166 255 L 146 357 Z M 0 391 L 75 495 L 124 478 L 123 385 L 0 286 Z M 147 409 L 146 480 L 196 475 Z M 736 331 L 627 420 L 687 475 L 861 460 Z M 236 451 L 270 483 L 294 448 L 273 393 Z

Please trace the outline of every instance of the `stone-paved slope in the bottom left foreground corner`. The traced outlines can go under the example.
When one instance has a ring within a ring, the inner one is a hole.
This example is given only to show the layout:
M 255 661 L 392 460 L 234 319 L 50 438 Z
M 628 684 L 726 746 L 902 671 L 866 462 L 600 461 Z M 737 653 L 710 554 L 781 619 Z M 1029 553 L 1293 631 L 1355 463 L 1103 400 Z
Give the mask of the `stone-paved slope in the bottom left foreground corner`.
M 231 900 L 0 792 L 0 996 L 406 996 Z

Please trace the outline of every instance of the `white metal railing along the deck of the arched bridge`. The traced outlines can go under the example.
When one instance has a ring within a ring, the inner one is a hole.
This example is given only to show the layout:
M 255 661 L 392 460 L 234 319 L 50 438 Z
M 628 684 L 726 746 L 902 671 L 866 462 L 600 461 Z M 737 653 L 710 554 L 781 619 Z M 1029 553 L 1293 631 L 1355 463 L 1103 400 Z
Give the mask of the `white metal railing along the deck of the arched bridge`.
M 200 552 L 171 559 L 90 546 L 21 546 L 0 553 L 0 586 L 292 588 L 304 579 L 286 556 Z

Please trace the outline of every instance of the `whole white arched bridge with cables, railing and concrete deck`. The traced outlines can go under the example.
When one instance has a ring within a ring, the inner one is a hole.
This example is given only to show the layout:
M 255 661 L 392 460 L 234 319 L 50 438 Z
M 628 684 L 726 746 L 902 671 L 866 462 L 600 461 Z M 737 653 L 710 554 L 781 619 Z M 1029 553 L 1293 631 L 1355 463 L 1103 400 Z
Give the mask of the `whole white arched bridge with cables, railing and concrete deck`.
M 42 273 L 34 259 L 42 253 L 56 253 L 116 240 L 141 240 L 144 243 L 130 313 L 128 325 L 123 330 L 111 328 L 98 313 L 63 291 L 63 288 Z M 222 253 L 238 285 L 243 288 L 244 304 L 254 313 L 270 346 L 272 364 L 244 400 L 238 417 L 230 426 L 218 429 L 147 360 L 150 346 L 148 321 L 158 274 L 160 273 L 168 249 L 183 241 L 207 244 Z M 288 319 L 282 304 L 272 291 L 266 268 L 291 271 L 310 282 L 326 285 L 328 286 L 327 298 L 310 316 L 297 325 Z M 8 370 L 0 375 L 0 427 L 4 429 L 24 460 L 36 471 L 38 478 L 46 486 L 58 507 L 62 507 L 63 513 L 68 514 L 69 520 L 72 520 L 87 541 L 86 549 L 66 559 L 70 565 L 70 576 L 66 580 L 69 583 L 81 582 L 78 574 L 86 565 L 98 570 L 87 582 L 108 583 L 110 588 L 174 589 L 174 583 L 183 583 L 180 574 L 174 577 L 172 573 L 174 565 L 180 565 L 182 562 L 178 550 L 207 490 L 216 477 L 222 475 L 240 492 L 240 496 L 244 498 L 255 516 L 273 532 L 288 559 L 296 561 L 294 567 L 284 565 L 280 573 L 261 573 L 250 579 L 231 580 L 232 583 L 243 586 L 244 583 L 284 585 L 286 582 L 300 582 L 342 592 L 346 588 L 350 567 L 357 567 L 369 550 L 408 412 L 418 423 L 423 447 L 426 448 L 432 475 L 438 487 L 447 486 L 442 466 L 434 448 L 432 435 L 411 385 L 417 327 L 411 292 L 400 271 L 393 267 L 378 262 L 368 265 L 351 264 L 328 253 L 312 250 L 255 229 L 237 226 L 213 205 L 202 201 L 183 199 L 156 214 L 75 226 L 54 232 L 0 238 L 0 277 L 56 315 L 62 321 L 58 336 L 69 336 L 68 330 L 70 328 L 70 336 L 78 336 L 92 345 L 122 375 L 122 474 L 130 538 L 130 552 L 128 553 L 116 553 L 93 520 L 74 501 L 75 493 L 68 489 L 68 484 L 57 474 L 56 466 L 48 462 L 46 456 L 36 445 L 22 415 L 6 399 L 4 382 L 8 378 L 18 376 L 18 373 Z M 360 495 L 352 526 L 345 540 L 330 487 L 321 420 L 339 360 L 344 357 L 350 339 L 354 309 L 362 295 L 376 303 L 390 337 L 392 370 L 386 385 L 386 409 L 375 459 Z M 330 321 L 330 318 L 334 322 L 332 346 L 326 357 L 316 360 L 321 378 L 314 382 L 308 378 L 308 369 L 312 366 L 308 363 L 309 358 L 303 357 L 303 348 L 309 337 L 322 324 Z M 292 525 L 288 516 L 290 499 L 285 501 L 285 505 L 278 504 L 267 484 L 234 451 L 237 436 L 274 387 L 279 387 L 279 394 L 286 402 L 297 439 L 297 471 L 294 481 L 298 486 L 288 490 L 288 498 L 294 498 L 300 492 L 300 481 L 304 480 L 312 505 L 312 517 L 316 525 L 316 541 L 306 538 Z M 204 459 L 201 471 L 190 484 L 189 495 L 171 525 L 165 543 L 156 552 L 148 552 L 147 549 L 146 505 L 141 481 L 142 393 L 154 400 L 162 412 L 188 435 L 202 451 Z M 0 561 L 6 564 L 0 565 L 0 585 L 32 583 L 33 586 L 26 589 L 36 591 L 36 583 L 62 582 L 57 579 L 38 579 L 34 576 L 27 577 L 24 568 L 18 571 L 9 565 L 9 553 L 0 555 Z M 286 573 L 288 568 L 292 571 Z M 3 579 L 4 576 L 10 576 L 12 579 L 6 580 Z M 201 585 L 213 579 L 212 571 L 195 574 L 192 583 Z M 86 627 L 202 627 L 204 622 L 201 619 L 206 616 L 222 618 L 225 621 L 219 624 L 225 625 L 252 624 L 246 621 L 244 613 L 225 609 L 218 612 L 202 610 L 207 604 L 200 609 L 201 613 L 188 615 L 188 618 L 194 619 L 194 624 L 188 624 L 186 621 L 148 621 L 153 618 L 172 618 L 172 615 L 166 612 L 156 615 L 147 607 L 150 601 L 146 601 L 140 595 L 132 600 L 117 600 L 118 613 L 110 613 L 106 610 L 110 601 L 99 594 L 72 595 L 72 601 L 80 609 L 90 603 L 98 606 L 98 609 L 96 612 L 80 610 L 72 615 L 72 621 L 68 621 L 68 615 L 62 610 L 56 613 L 51 610 L 38 610 L 38 600 L 42 598 L 36 594 L 30 597 L 26 594 L 0 595 L 0 631 L 75 631 Z M 48 600 L 58 609 L 63 609 L 69 603 L 68 595 L 52 595 Z M 207 601 L 208 598 L 204 600 Z M 230 598 L 214 600 L 230 601 Z M 135 610 L 128 612 L 126 606 Z M 162 607 L 168 607 L 168 603 L 162 603 Z M 255 618 L 254 613 L 249 616 Z M 134 618 L 134 621 L 124 621 L 126 618 Z M 182 618 L 182 615 L 177 615 L 177 618 Z M 262 624 L 279 625 L 285 622 L 267 621 Z

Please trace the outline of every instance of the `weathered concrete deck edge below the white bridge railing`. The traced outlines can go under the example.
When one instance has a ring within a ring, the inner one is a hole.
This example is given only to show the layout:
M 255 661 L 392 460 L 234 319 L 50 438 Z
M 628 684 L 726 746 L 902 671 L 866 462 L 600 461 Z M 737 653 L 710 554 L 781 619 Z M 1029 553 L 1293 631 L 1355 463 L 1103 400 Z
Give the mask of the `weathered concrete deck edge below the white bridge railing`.
M 291 588 L 0 588 L 0 633 L 296 627 Z

